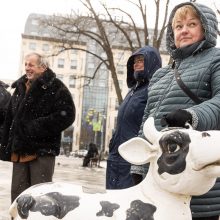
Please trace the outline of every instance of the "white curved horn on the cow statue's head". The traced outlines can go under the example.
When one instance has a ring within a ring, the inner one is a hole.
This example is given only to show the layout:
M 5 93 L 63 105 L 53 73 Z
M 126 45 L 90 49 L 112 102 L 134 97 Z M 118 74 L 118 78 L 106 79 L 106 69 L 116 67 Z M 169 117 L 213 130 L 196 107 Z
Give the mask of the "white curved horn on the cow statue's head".
M 143 126 L 143 132 L 144 136 L 148 141 L 151 143 L 155 143 L 157 140 L 158 136 L 160 135 L 160 132 L 156 129 L 155 124 L 154 124 L 154 118 L 149 117 Z

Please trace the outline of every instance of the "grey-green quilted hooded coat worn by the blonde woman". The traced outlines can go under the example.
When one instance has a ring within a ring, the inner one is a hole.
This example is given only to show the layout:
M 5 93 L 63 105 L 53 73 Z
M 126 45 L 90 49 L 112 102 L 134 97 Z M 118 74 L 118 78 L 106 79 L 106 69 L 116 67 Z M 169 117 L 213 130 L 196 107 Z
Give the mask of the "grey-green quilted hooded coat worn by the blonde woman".
M 176 49 L 171 23 L 175 11 L 185 4 L 194 6 L 200 14 L 205 39 Z M 175 109 L 188 110 L 193 115 L 193 127 L 197 130 L 220 130 L 220 48 L 215 47 L 217 30 L 216 15 L 205 5 L 187 2 L 173 9 L 166 40 L 167 50 L 174 63 L 157 70 L 150 81 L 148 103 L 139 136 L 143 137 L 143 123 L 149 116 L 154 117 L 157 129 L 161 130 L 162 116 Z M 181 90 L 175 80 L 174 68 L 178 69 L 186 86 L 203 101 L 201 104 L 194 103 Z M 131 172 L 146 174 L 145 168 L 132 166 Z M 191 210 L 193 217 L 220 215 L 220 181 L 217 181 L 214 188 L 204 196 L 193 197 Z

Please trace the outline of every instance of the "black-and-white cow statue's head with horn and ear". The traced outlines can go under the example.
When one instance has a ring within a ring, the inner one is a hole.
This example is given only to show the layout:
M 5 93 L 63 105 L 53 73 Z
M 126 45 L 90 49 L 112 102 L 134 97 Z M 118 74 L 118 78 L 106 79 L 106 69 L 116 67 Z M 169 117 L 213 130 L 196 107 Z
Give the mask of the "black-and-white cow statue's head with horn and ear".
M 207 192 L 220 176 L 220 131 L 192 128 L 157 131 L 154 119 L 143 127 L 145 139 L 136 137 L 119 147 L 132 164 L 150 163 L 149 175 L 163 189 L 187 195 Z

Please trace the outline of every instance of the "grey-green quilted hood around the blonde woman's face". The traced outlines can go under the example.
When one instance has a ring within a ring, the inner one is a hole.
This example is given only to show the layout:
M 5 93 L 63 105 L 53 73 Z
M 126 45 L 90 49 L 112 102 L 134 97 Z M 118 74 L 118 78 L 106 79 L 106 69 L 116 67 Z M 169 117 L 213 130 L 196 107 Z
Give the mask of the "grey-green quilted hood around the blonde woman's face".
M 197 49 L 203 50 L 210 47 L 216 46 L 217 43 L 217 34 L 218 34 L 218 21 L 216 18 L 215 12 L 202 4 L 194 3 L 194 2 L 185 2 L 177 5 L 171 12 L 168 26 L 167 26 L 167 34 L 166 34 L 166 47 L 168 53 L 175 59 L 174 50 L 176 46 L 174 44 L 174 36 L 172 30 L 172 20 L 176 10 L 184 5 L 192 5 L 200 16 L 200 20 L 202 22 L 202 26 L 205 30 L 205 40 L 200 42 Z

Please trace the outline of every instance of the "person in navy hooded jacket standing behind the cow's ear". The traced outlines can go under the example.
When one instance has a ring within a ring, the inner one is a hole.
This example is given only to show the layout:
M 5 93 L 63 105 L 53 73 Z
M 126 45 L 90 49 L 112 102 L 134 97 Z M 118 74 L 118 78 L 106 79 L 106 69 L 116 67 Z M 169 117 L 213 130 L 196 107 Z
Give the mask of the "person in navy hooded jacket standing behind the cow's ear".
M 137 136 L 148 99 L 149 80 L 160 67 L 160 54 L 150 46 L 138 49 L 128 59 L 129 92 L 119 107 L 116 129 L 109 143 L 106 189 L 124 189 L 134 185 L 130 174 L 131 164 L 119 155 L 118 147 Z

